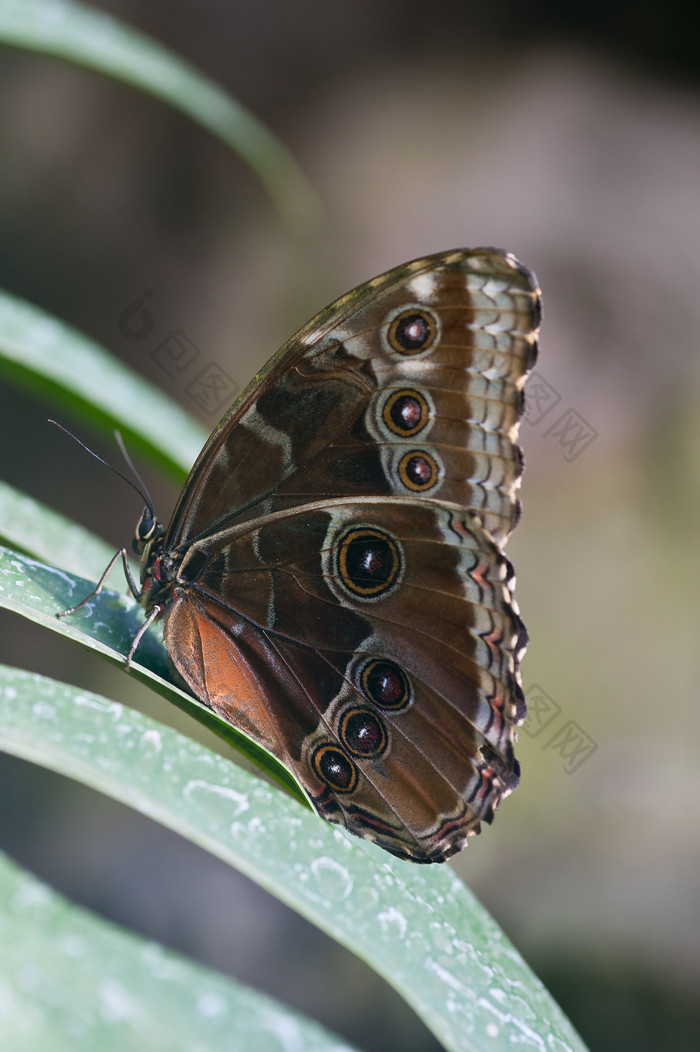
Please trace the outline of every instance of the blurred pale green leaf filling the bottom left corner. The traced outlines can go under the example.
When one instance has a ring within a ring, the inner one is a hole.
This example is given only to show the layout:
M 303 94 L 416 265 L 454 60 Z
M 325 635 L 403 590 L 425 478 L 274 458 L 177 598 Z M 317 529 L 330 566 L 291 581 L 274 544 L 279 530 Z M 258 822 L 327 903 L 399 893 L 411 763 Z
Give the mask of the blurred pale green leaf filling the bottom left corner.
M 7 1052 L 349 1052 L 291 1009 L 67 903 L 0 855 Z

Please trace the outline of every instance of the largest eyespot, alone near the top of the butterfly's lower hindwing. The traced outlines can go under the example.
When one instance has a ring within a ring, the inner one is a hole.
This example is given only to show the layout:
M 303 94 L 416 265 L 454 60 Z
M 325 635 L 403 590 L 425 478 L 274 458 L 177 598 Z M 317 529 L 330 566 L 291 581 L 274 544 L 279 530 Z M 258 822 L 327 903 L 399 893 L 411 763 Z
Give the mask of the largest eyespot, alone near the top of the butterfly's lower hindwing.
M 403 560 L 398 542 L 384 530 L 356 526 L 338 542 L 336 563 L 340 583 L 348 592 L 376 599 L 399 581 Z

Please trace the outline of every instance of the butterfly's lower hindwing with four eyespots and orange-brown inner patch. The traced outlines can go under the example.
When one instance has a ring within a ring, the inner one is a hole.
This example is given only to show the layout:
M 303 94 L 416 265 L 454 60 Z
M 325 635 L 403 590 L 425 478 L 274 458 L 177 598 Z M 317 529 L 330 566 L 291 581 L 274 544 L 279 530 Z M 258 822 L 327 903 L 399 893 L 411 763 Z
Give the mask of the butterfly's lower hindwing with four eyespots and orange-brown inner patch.
M 248 521 L 196 542 L 176 592 L 180 674 L 331 821 L 440 862 L 517 784 L 513 571 L 458 505 L 322 501 Z

